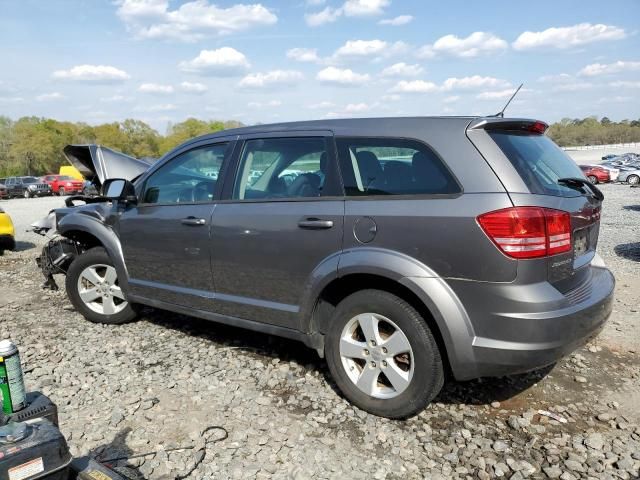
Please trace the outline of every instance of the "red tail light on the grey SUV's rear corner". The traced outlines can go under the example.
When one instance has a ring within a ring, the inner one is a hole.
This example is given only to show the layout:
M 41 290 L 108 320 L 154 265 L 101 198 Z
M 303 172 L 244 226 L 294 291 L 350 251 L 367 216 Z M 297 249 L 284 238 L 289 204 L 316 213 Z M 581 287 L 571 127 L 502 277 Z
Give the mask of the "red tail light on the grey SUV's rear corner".
M 512 258 L 538 258 L 571 251 L 571 216 L 540 207 L 512 207 L 485 213 L 478 223 Z

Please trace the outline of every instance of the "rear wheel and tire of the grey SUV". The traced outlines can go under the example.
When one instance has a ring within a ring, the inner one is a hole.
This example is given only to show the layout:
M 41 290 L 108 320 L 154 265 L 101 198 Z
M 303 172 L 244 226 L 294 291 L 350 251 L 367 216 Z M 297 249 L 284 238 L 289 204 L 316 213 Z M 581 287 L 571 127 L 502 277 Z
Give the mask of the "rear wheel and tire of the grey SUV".
M 325 354 L 344 396 L 382 417 L 420 412 L 444 383 L 440 351 L 425 320 L 381 290 L 362 290 L 338 304 Z

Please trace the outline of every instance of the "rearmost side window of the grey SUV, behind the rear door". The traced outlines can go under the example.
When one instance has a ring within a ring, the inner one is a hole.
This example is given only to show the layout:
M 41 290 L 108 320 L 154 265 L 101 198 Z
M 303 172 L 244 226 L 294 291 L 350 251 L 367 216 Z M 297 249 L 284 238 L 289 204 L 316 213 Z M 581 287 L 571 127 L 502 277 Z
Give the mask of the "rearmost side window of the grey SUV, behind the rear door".
M 461 191 L 428 146 L 401 138 L 337 138 L 347 196 L 442 195 Z

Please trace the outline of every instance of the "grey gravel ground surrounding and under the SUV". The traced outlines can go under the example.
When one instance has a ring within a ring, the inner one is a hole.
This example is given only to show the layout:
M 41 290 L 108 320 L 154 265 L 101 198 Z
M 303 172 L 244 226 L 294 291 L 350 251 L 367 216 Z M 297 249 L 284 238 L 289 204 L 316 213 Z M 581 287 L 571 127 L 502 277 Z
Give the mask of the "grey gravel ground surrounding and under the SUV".
M 640 189 L 603 190 L 599 250 L 618 280 L 603 333 L 553 369 L 450 381 L 406 421 L 350 406 L 294 342 L 156 310 L 84 321 L 40 290 L 42 239 L 23 232 L 57 198 L 2 202 L 20 251 L 0 258 L 0 338 L 58 404 L 73 453 L 131 478 L 638 478 Z

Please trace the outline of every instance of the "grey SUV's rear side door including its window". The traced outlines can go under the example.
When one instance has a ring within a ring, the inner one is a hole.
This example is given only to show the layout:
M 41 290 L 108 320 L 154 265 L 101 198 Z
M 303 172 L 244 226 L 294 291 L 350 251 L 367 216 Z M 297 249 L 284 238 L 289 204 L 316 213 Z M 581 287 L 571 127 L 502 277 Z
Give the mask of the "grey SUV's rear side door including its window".
M 244 141 L 229 198 L 213 213 L 220 313 L 299 326 L 312 272 L 341 250 L 344 201 L 331 145 L 328 134 Z

